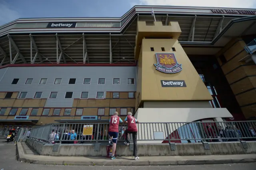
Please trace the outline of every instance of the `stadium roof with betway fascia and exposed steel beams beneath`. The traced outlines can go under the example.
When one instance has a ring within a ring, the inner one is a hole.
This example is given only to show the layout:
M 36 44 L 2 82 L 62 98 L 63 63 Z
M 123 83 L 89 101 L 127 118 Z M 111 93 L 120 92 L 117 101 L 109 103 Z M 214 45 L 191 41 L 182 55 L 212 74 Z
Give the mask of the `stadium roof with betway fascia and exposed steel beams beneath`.
M 120 18 L 20 18 L 0 26 L 0 66 L 16 63 L 134 63 L 137 21 L 178 21 L 188 55 L 214 55 L 255 34 L 256 10 L 134 6 Z M 195 50 L 196 49 L 196 50 Z

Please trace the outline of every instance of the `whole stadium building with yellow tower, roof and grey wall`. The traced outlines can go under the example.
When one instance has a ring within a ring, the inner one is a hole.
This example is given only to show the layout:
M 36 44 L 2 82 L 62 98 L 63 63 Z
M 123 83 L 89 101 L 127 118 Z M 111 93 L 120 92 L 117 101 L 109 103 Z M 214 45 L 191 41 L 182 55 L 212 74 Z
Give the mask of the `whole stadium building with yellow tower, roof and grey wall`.
M 0 26 L 0 127 L 256 118 L 256 10 L 134 6 Z

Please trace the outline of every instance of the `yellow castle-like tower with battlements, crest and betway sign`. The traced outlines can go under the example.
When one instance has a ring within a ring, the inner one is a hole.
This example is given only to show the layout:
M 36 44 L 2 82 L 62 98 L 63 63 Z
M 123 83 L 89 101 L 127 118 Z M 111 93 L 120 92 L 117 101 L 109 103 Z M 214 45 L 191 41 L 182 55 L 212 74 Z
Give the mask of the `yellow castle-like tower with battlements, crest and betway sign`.
M 136 109 L 211 107 L 212 96 L 178 42 L 180 34 L 178 22 L 138 21 Z

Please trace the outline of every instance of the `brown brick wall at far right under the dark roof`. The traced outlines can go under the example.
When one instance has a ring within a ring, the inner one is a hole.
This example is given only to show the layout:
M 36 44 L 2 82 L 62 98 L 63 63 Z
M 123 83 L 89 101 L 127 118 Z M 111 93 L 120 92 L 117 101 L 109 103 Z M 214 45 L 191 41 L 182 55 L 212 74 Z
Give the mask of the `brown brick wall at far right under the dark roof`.
M 253 61 L 240 61 L 248 53 L 241 38 L 230 41 L 218 54 L 223 73 L 246 119 L 256 117 L 256 67 Z M 221 57 L 226 62 L 220 60 Z

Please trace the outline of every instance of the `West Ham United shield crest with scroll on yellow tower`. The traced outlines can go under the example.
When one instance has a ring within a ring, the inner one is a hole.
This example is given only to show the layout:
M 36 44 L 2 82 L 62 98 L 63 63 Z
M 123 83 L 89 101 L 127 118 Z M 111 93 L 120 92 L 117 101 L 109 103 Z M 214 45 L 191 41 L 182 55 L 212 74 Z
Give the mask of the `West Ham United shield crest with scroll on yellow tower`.
M 176 60 L 174 53 L 156 53 L 156 69 L 163 73 L 178 73 L 182 66 Z

